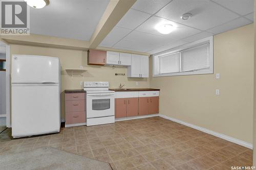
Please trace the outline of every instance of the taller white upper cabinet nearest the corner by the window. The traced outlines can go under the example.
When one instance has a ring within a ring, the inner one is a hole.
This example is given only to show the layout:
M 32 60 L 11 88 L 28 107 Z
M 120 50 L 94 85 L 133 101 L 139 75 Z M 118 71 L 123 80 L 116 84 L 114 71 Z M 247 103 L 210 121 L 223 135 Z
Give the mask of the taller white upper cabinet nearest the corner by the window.
M 132 54 L 132 65 L 127 68 L 127 77 L 148 78 L 148 56 Z

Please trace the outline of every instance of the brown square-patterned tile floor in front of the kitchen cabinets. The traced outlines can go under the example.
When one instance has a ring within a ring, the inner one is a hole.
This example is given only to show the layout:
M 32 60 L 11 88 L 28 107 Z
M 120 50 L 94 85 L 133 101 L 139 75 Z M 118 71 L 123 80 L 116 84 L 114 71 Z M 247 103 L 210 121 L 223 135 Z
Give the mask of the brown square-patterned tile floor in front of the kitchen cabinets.
M 0 134 L 0 153 L 51 146 L 110 162 L 113 169 L 231 169 L 251 166 L 252 150 L 161 117 L 61 128 L 58 134 L 11 139 Z

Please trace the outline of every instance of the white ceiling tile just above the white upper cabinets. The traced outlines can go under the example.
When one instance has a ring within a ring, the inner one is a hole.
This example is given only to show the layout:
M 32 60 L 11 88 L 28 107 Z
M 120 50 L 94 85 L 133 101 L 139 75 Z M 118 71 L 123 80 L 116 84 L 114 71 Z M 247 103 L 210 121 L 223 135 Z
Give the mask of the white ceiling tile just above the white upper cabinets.
M 127 41 L 127 40 L 121 40 L 118 43 L 116 43 L 114 48 L 119 48 L 122 50 L 133 50 L 138 52 L 147 52 L 150 51 L 156 47 L 159 47 L 154 44 L 149 43 L 141 43 L 141 42 L 134 42 L 134 41 Z

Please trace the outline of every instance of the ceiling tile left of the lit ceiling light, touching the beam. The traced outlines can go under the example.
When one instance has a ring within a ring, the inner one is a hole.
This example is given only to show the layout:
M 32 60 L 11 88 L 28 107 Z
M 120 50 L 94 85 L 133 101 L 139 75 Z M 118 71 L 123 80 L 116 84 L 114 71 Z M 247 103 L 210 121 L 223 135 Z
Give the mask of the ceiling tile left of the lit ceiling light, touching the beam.
M 130 9 L 117 23 L 117 26 L 133 30 L 150 16 L 150 14 Z

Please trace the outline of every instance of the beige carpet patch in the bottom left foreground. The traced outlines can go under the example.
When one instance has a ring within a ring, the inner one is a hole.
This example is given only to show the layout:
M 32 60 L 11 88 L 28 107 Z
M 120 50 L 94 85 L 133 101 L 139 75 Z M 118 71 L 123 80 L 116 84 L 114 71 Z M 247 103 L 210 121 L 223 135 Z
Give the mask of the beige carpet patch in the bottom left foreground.
M 0 169 L 112 169 L 109 163 L 51 147 L 0 155 Z

